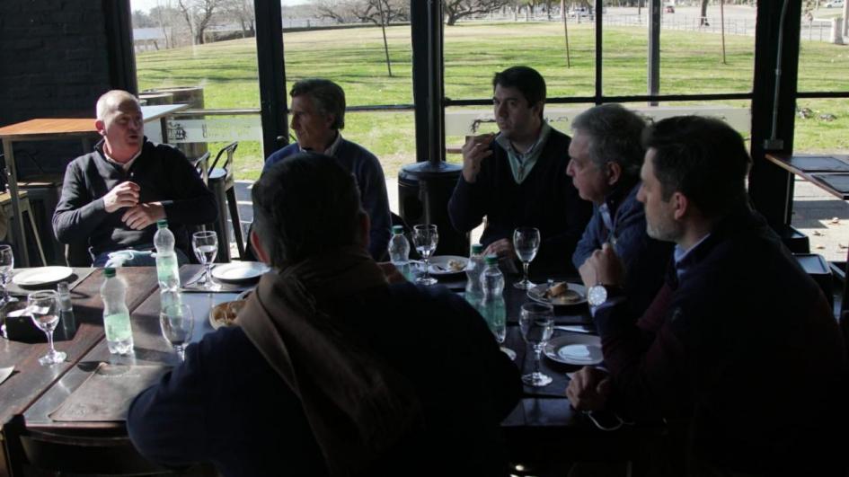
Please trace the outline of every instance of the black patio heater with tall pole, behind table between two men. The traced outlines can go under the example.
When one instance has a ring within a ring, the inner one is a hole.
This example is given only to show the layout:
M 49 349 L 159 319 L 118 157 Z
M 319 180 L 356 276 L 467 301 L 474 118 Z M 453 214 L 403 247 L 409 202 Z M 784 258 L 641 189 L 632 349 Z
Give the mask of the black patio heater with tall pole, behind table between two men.
M 438 226 L 439 243 L 435 254 L 467 256 L 469 235 L 457 232 L 448 218 L 448 199 L 463 168 L 445 162 L 442 19 L 440 0 L 411 3 L 412 79 L 419 162 L 407 164 L 398 172 L 399 211 L 407 225 Z M 424 131 L 427 134 L 423 134 Z

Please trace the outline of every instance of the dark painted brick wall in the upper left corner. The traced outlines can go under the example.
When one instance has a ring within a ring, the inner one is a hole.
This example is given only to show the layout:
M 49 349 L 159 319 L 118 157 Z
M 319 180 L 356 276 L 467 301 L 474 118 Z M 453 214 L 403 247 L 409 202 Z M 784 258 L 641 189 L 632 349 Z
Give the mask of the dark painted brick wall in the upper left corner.
M 0 1 L 0 126 L 32 118 L 93 118 L 110 89 L 102 2 Z M 64 171 L 82 153 L 78 141 L 15 145 L 20 173 Z M 19 151 L 21 151 L 19 153 Z

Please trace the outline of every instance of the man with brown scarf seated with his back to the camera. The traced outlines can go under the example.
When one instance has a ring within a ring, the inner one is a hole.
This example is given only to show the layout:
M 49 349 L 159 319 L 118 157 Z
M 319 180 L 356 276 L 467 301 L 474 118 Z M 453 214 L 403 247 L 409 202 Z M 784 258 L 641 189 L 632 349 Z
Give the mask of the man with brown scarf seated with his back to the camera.
M 499 423 L 521 386 L 480 315 L 444 287 L 387 282 L 331 158 L 289 157 L 252 195 L 273 271 L 236 327 L 133 402 L 139 451 L 226 475 L 506 475 Z

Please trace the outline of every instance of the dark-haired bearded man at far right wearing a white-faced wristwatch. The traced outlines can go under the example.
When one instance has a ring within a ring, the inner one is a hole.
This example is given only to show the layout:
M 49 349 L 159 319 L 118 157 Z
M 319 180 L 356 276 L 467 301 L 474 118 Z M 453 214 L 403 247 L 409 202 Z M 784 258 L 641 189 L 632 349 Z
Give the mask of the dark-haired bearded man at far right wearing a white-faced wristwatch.
M 686 426 L 692 475 L 846 472 L 846 348 L 825 296 L 749 206 L 749 157 L 719 119 L 659 121 L 641 190 L 651 237 L 676 243 L 640 322 L 612 247 L 589 259 L 606 372 L 584 368 L 575 408 Z M 684 471 L 677 474 L 683 474 Z

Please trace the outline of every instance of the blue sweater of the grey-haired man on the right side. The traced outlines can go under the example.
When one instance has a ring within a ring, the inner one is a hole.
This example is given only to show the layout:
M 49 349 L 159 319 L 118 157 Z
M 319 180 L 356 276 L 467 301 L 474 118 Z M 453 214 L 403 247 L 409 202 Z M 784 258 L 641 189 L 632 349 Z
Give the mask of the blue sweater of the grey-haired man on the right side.
M 605 198 L 614 230 L 607 230 L 601 211 L 597 206 L 593 208 L 593 216 L 572 255 L 572 264 L 579 268 L 593 252 L 601 249 L 608 236 L 613 235 L 614 250 L 625 268 L 625 295 L 637 314 L 649 307 L 663 285 L 674 245 L 646 234 L 645 209 L 637 200 L 640 184 L 639 181 L 620 182 Z

